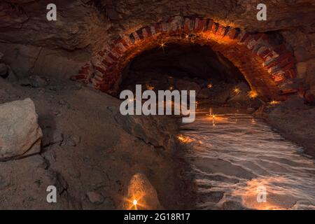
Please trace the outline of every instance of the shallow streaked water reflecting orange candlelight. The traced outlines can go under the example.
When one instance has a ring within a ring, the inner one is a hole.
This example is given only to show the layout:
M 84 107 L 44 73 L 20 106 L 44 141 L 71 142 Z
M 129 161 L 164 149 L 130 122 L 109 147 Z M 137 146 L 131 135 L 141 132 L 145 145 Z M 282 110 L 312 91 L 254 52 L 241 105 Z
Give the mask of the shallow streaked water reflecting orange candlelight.
M 197 209 L 315 209 L 314 160 L 263 120 L 202 114 L 181 129 Z

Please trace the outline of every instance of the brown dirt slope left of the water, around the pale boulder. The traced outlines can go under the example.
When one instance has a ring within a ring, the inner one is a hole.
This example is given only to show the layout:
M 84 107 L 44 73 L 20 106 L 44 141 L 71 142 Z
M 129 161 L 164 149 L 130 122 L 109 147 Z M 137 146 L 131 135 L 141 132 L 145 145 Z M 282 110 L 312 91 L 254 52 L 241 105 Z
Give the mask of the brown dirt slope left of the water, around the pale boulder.
M 135 174 L 154 186 L 165 209 L 192 200 L 172 157 L 174 120 L 120 116 L 118 99 L 66 80 L 0 78 L 0 86 L 1 104 L 34 102 L 43 131 L 39 153 L 0 162 L 0 209 L 119 209 Z M 57 203 L 46 202 L 50 185 Z

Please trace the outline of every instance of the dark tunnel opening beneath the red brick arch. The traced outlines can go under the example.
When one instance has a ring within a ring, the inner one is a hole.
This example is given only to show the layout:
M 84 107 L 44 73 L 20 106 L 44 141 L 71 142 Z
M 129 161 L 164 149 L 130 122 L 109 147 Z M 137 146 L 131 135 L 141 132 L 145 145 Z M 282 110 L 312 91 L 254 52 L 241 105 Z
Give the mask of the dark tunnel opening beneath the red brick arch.
M 223 97 L 235 87 L 250 87 L 241 71 L 220 52 L 197 44 L 165 43 L 146 50 L 126 66 L 118 92 L 132 90 L 136 85 L 153 90 L 195 90 L 197 98 Z M 224 100 L 223 102 L 224 103 Z

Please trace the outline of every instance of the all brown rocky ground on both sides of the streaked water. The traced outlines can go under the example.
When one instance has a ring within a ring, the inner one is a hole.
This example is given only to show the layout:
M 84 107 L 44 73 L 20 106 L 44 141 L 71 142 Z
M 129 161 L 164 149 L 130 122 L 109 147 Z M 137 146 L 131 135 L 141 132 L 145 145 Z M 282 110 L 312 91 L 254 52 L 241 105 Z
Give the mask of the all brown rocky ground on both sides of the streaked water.
M 284 137 L 304 146 L 305 153 L 315 155 L 315 107 L 302 97 L 269 104 L 251 99 L 242 81 L 209 87 L 207 80 L 198 78 L 163 77 L 166 82 L 159 78 L 158 89 L 197 90 L 198 106 L 205 109 L 255 112 Z M 150 80 L 145 82 L 156 83 Z M 153 192 L 146 196 L 151 205 L 147 209 L 188 209 L 195 199 L 195 186 L 183 179 L 189 167 L 176 150 L 174 118 L 121 116 L 118 99 L 69 80 L 1 78 L 0 85 L 1 105 L 22 99 L 34 102 L 43 132 L 41 147 L 35 150 L 23 154 L 13 148 L 18 155 L 1 151 L 1 209 L 126 209 L 139 183 L 145 183 L 138 188 L 141 193 Z M 58 190 L 55 204 L 46 201 L 50 185 Z

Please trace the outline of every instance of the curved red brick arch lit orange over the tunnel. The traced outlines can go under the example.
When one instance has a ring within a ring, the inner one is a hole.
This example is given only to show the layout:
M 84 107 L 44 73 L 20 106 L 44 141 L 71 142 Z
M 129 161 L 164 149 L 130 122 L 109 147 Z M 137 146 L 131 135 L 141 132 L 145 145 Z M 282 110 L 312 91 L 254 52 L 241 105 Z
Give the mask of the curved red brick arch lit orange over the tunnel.
M 297 91 L 285 89 L 290 78 L 296 76 L 295 59 L 285 45 L 274 45 L 266 34 L 248 34 L 209 18 L 181 16 L 121 35 L 97 52 L 71 79 L 92 83 L 94 88 L 113 94 L 121 72 L 136 55 L 169 42 L 209 45 L 221 52 L 239 68 L 262 99 L 285 99 L 285 94 Z

